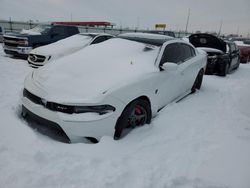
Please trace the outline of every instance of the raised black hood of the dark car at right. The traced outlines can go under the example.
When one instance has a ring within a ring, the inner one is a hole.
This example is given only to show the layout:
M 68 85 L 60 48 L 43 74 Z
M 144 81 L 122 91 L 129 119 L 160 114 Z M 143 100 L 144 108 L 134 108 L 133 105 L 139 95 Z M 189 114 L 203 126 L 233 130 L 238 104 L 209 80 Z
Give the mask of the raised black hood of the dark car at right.
M 218 37 L 206 33 L 193 34 L 189 36 L 189 42 L 197 47 L 214 48 L 226 53 L 226 42 Z

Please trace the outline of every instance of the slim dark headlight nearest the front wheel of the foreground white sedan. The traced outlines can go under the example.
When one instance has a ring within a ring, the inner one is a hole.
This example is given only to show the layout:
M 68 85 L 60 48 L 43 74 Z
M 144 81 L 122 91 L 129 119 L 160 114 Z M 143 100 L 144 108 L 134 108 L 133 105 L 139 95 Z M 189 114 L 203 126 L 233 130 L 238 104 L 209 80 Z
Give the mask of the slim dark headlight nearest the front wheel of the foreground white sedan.
M 100 115 L 113 112 L 115 111 L 115 107 L 110 105 L 98 105 L 98 106 L 75 106 L 74 112 L 75 113 L 87 113 L 87 112 L 94 112 Z

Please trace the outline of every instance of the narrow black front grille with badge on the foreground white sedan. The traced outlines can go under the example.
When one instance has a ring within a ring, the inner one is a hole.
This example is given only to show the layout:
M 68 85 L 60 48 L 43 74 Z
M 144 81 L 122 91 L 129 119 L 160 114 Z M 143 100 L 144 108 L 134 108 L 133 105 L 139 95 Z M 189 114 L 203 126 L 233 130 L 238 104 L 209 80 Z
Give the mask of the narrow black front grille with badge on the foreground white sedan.
M 23 97 L 26 97 L 29 100 L 31 100 L 32 102 L 39 104 L 39 105 L 42 105 L 45 108 L 52 110 L 52 111 L 63 112 L 63 113 L 67 113 L 67 114 L 74 113 L 74 106 L 63 105 L 63 104 L 58 104 L 58 103 L 46 101 L 46 100 L 30 93 L 27 89 L 23 90 Z

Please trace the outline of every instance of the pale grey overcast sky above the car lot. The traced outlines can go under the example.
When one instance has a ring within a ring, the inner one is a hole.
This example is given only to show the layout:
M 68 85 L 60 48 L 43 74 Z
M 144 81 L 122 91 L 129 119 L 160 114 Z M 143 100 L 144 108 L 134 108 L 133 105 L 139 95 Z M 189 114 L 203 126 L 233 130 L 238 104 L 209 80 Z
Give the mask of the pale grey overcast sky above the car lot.
M 250 0 L 0 0 L 0 19 L 110 21 L 117 27 L 250 33 Z

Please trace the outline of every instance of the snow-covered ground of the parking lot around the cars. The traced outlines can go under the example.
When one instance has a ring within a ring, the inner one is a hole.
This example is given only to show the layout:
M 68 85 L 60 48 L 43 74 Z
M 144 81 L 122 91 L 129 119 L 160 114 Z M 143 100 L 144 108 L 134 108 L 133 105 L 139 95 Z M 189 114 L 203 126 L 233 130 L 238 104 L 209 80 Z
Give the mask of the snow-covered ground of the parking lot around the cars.
M 1 188 L 249 188 L 250 65 L 205 76 L 201 90 L 114 141 L 64 144 L 20 118 L 32 71 L 0 50 Z

